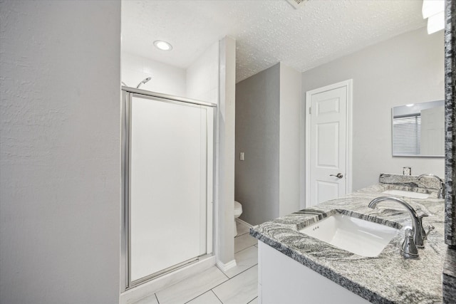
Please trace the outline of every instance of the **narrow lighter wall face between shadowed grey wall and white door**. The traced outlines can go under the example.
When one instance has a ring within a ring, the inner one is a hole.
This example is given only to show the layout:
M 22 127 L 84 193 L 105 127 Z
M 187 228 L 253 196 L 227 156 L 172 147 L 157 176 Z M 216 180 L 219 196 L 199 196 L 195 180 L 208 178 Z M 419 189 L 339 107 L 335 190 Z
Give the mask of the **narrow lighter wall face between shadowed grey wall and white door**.
M 299 210 L 301 73 L 280 63 L 279 216 Z

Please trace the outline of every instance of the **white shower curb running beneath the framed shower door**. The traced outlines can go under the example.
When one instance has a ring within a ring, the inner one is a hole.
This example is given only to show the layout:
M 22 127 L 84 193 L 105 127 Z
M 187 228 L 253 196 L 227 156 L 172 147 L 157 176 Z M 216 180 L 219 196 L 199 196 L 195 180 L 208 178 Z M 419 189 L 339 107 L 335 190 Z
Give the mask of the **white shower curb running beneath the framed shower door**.
M 153 295 L 158 290 L 167 288 L 168 286 L 182 281 L 190 276 L 195 276 L 195 274 L 211 268 L 215 265 L 215 263 L 215 256 L 210 256 L 209 258 L 204 258 L 202 261 L 197 261 L 192 265 L 180 268 L 172 273 L 167 273 L 165 276 L 160 276 L 155 280 L 143 283 L 135 288 L 131 288 L 124 293 L 120 293 L 120 304 L 135 303 L 142 298 Z M 236 262 L 234 262 L 234 265 L 236 265 Z

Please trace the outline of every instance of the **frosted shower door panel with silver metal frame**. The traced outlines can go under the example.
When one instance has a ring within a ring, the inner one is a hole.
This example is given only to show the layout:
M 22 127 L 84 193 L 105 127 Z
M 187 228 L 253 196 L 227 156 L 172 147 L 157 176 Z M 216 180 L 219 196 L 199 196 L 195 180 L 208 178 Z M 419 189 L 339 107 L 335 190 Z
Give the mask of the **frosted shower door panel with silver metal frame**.
M 122 87 L 123 291 L 212 254 L 215 106 Z

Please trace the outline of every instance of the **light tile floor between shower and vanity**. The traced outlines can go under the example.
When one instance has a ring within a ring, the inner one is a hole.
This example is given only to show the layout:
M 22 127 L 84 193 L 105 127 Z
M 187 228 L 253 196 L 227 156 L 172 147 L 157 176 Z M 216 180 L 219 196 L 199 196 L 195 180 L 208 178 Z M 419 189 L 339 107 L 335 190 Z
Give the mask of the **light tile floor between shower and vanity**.
M 237 222 L 237 231 L 236 267 L 224 273 L 213 266 L 135 304 L 257 304 L 257 239 L 249 235 L 249 226 L 245 224 Z

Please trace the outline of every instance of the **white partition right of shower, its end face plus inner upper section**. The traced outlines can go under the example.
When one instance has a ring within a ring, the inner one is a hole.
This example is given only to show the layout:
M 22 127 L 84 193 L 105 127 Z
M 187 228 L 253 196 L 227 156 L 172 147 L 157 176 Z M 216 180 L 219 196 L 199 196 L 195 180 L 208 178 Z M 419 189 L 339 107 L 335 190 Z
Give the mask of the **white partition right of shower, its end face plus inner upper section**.
M 234 92 L 236 41 L 213 43 L 187 68 L 185 97 L 217 104 L 214 234 L 217 265 L 234 266 Z

